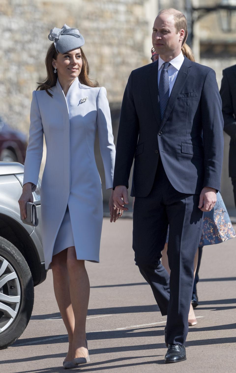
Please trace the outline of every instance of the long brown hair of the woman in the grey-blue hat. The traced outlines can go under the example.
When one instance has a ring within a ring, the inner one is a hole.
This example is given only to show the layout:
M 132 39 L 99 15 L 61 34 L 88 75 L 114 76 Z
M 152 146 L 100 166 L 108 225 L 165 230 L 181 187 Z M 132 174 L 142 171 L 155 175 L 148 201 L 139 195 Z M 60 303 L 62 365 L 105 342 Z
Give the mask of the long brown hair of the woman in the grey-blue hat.
M 83 61 L 83 65 L 81 68 L 80 75 L 78 76 L 78 79 L 81 84 L 88 85 L 89 87 L 98 87 L 98 82 L 92 81 L 89 78 L 89 64 L 87 62 L 87 59 L 81 47 L 80 47 L 80 51 L 81 51 L 81 58 Z M 37 91 L 45 90 L 47 94 L 50 95 L 50 97 L 53 97 L 53 95 L 49 92 L 49 90 L 52 87 L 54 87 L 54 85 L 56 85 L 57 83 L 57 73 L 54 73 L 54 67 L 52 66 L 53 59 L 54 60 L 57 59 L 57 51 L 55 50 L 54 43 L 52 43 L 50 47 L 48 48 L 47 56 L 45 58 L 47 78 L 44 81 L 37 83 L 39 84 L 37 87 Z

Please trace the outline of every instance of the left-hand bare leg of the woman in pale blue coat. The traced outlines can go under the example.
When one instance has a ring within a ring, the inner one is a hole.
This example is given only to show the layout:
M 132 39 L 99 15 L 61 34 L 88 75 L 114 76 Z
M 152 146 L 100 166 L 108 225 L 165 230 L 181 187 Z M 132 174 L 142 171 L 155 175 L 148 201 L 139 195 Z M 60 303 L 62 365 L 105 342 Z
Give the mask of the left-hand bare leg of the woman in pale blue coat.
M 70 280 L 67 270 L 67 249 L 52 257 L 52 276 L 55 298 L 61 313 L 61 317 L 66 326 L 69 348 L 65 361 L 72 360 L 73 333 L 74 333 L 74 313 L 70 299 Z

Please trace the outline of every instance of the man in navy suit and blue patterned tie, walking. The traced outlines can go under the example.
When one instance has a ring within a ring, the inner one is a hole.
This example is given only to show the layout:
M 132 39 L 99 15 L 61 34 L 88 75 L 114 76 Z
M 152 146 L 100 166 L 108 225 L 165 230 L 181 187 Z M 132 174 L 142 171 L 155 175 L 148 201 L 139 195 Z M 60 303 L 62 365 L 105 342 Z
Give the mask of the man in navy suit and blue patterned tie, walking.
M 135 32 L 135 29 L 134 29 Z M 135 261 L 167 315 L 166 363 L 186 359 L 194 256 L 203 211 L 220 189 L 223 117 L 215 72 L 181 53 L 185 16 L 161 11 L 152 41 L 159 60 L 131 72 L 122 101 L 114 172 L 114 201 L 127 210 L 131 195 Z M 160 262 L 168 224 L 170 277 Z

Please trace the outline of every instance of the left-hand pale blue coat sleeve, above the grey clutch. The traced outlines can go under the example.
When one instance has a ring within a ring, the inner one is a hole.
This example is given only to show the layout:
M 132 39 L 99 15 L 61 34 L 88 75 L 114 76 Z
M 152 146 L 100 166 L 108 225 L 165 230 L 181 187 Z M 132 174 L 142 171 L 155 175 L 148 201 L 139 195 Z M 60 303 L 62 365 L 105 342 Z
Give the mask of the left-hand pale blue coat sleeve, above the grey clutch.
M 42 127 L 41 115 L 38 107 L 36 92 L 33 92 L 30 127 L 29 127 L 29 145 L 26 150 L 23 185 L 31 182 L 32 192 L 35 191 L 38 184 L 39 170 L 42 161 L 44 146 L 44 131 Z

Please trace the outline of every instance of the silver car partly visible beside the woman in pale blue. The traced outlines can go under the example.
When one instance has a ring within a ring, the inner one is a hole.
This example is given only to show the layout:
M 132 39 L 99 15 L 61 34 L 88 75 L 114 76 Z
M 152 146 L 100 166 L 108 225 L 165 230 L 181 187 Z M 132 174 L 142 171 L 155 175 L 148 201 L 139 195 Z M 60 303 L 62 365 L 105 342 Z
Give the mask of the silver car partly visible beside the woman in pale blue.
M 0 349 L 16 341 L 28 325 L 34 305 L 34 286 L 47 271 L 41 238 L 40 180 L 33 193 L 39 225 L 20 220 L 24 166 L 0 162 Z

